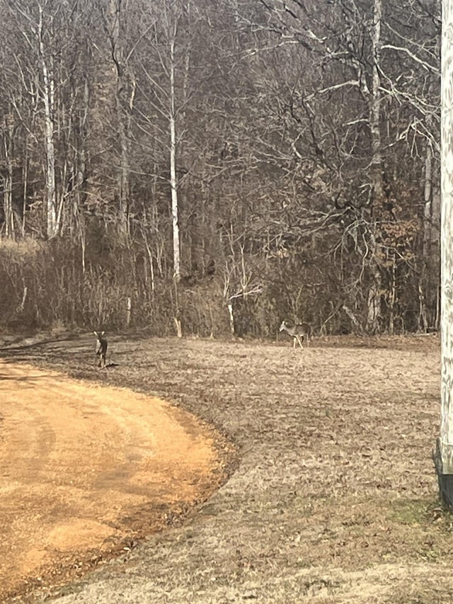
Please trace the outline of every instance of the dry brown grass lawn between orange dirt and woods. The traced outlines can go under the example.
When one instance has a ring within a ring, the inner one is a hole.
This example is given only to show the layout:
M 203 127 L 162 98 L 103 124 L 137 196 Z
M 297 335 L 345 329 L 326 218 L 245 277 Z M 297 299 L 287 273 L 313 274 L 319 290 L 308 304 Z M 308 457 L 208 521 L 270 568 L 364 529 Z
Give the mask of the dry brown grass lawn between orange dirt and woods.
M 22 601 L 453 602 L 453 522 L 431 459 L 435 336 L 328 338 L 304 351 L 118 337 L 105 372 L 92 348 L 84 337 L 0 355 L 173 401 L 234 443 L 230 476 L 185 523 Z

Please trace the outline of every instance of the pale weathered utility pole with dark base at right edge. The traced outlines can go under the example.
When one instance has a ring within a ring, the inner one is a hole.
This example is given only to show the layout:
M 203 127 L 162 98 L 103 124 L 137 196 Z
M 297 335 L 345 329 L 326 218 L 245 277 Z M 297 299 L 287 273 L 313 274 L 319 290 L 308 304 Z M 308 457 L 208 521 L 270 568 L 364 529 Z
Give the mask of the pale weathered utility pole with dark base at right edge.
M 453 508 L 453 0 L 442 0 L 440 436 L 435 467 L 442 503 Z

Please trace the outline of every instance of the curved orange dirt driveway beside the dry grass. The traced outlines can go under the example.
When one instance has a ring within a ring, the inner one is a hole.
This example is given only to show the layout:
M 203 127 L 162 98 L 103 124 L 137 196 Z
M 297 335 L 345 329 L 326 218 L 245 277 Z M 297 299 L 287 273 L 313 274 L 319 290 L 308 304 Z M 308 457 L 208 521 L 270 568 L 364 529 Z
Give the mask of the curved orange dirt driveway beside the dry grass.
M 165 526 L 218 465 L 212 433 L 164 401 L 0 360 L 0 601 Z

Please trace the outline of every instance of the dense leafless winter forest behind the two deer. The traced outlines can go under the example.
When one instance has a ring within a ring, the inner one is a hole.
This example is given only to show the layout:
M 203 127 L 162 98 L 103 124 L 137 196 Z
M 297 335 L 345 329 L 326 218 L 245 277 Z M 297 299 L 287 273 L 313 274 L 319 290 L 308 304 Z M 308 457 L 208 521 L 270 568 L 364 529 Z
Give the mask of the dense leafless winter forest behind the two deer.
M 0 328 L 440 322 L 440 0 L 0 0 Z

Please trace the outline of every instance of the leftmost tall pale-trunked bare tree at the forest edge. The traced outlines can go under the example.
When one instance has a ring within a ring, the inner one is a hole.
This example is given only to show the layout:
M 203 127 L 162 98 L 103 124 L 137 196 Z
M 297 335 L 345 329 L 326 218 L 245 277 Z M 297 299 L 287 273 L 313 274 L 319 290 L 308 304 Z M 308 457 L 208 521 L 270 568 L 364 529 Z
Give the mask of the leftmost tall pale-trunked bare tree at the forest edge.
M 23 41 L 21 51 L 14 57 L 16 89 L 10 87 L 8 92 L 16 121 L 21 122 L 28 139 L 37 146 L 40 139 L 44 140 L 45 234 L 51 239 L 62 229 L 67 194 L 75 184 L 68 170 L 74 145 L 64 142 L 71 139 L 76 127 L 71 118 L 77 109 L 78 86 L 74 86 L 71 99 L 65 95 L 74 85 L 76 65 L 80 65 L 81 58 L 77 61 L 76 53 L 81 54 L 81 45 L 76 39 L 82 30 L 79 21 L 86 7 L 81 0 L 75 5 L 40 0 L 33 6 L 23 1 L 5 1 L 15 28 L 11 35 L 17 34 Z M 83 52 L 81 57 L 86 59 Z M 30 106 L 28 114 L 25 103 Z M 61 155 L 62 150 L 66 155 Z

